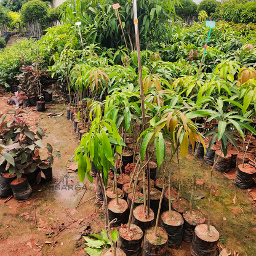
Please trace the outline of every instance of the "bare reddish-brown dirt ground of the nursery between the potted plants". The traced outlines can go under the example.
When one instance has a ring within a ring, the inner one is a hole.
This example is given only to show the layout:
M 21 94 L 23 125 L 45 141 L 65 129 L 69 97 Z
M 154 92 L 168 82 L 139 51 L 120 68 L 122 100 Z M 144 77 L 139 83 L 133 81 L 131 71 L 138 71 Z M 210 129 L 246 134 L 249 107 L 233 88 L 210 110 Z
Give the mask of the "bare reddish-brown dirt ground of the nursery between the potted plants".
M 0 94 L 0 112 L 12 109 L 6 104 L 8 94 Z M 17 202 L 0 199 L 0 255 L 1 256 L 40 256 L 40 255 L 86 255 L 82 236 L 98 233 L 104 228 L 103 210 L 94 204 L 94 186 L 78 180 L 75 172 L 68 172 L 68 159 L 78 146 L 76 134 L 70 121 L 66 120 L 65 101 L 58 98 L 47 104 L 44 113 L 34 107 L 23 117 L 31 126 L 47 128 L 49 142 L 62 153 L 62 161 L 55 160 L 54 180 L 44 185 L 34 185 L 33 194 L 27 201 Z M 53 117 L 50 113 L 61 114 Z M 48 114 L 48 115 L 47 115 Z M 190 199 L 191 170 L 198 177 L 198 188 L 194 193 L 193 206 L 208 215 L 210 167 L 202 159 L 194 163 L 188 154 L 181 161 L 182 196 Z M 170 166 L 177 178 L 177 159 Z M 241 256 L 256 255 L 256 186 L 242 191 L 233 185 L 235 172 L 228 174 L 214 172 L 214 196 L 212 199 L 211 223 L 220 232 L 223 248 L 236 250 Z M 237 201 L 233 204 L 236 194 Z M 205 198 L 204 198 L 205 197 Z M 198 199 L 196 199 L 198 198 Z M 202 199 L 199 199 L 202 198 Z M 79 201 L 86 202 L 76 207 Z M 169 255 L 190 255 L 190 244 L 183 242 L 178 249 L 170 250 Z M 233 254 L 232 254 L 233 255 Z

